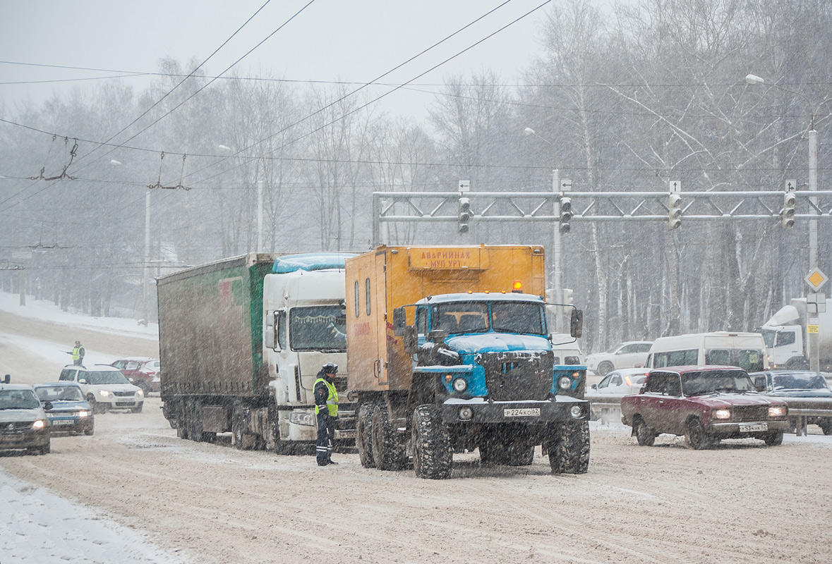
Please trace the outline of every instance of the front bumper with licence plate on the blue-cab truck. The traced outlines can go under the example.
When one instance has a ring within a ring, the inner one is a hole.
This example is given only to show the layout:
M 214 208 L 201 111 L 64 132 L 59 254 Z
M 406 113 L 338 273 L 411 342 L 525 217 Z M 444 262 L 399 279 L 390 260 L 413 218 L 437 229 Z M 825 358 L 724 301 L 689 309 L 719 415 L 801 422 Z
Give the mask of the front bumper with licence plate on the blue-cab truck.
M 443 424 L 545 424 L 589 419 L 589 402 L 558 395 L 547 401 L 446 400 Z

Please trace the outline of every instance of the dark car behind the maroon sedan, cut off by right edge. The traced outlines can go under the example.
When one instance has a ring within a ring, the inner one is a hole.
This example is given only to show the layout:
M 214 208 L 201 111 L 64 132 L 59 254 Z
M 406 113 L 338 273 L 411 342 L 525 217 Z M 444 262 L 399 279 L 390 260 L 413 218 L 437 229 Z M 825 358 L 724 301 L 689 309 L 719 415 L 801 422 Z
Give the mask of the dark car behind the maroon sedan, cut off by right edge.
M 805 417 L 805 424 L 816 424 L 824 434 L 832 434 L 832 390 L 820 372 L 810 370 L 770 370 L 750 375 L 763 394 L 771 395 L 789 405 L 793 427 Z M 827 414 L 822 414 L 823 412 Z

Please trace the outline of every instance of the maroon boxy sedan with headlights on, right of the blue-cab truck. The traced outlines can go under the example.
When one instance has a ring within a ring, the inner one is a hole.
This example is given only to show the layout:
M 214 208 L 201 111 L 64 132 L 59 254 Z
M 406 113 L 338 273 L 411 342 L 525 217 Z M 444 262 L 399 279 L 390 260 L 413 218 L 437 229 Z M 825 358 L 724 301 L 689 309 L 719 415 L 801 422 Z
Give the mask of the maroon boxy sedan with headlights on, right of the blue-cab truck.
M 721 439 L 780 444 L 788 416 L 785 401 L 760 395 L 748 373 L 736 366 L 654 369 L 640 394 L 622 398 L 622 421 L 642 446 L 662 433 L 684 434 L 697 450 Z

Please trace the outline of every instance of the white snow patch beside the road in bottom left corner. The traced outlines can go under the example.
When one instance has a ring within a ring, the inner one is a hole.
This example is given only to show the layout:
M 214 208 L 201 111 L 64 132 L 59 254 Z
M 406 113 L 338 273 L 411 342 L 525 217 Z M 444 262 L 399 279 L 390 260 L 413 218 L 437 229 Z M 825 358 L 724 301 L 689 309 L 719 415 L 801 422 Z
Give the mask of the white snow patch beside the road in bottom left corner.
M 136 532 L 0 471 L 2 564 L 183 562 Z

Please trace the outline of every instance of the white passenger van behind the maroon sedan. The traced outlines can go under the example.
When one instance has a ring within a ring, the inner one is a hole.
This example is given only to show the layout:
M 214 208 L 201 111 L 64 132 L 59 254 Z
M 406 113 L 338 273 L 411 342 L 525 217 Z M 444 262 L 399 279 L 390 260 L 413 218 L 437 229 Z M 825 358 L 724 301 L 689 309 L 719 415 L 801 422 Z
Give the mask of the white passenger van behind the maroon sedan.
M 746 372 L 768 370 L 765 341 L 760 333 L 691 333 L 653 341 L 646 368 L 665 366 L 739 366 Z

